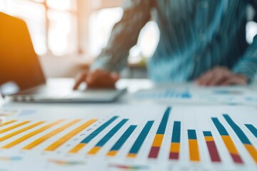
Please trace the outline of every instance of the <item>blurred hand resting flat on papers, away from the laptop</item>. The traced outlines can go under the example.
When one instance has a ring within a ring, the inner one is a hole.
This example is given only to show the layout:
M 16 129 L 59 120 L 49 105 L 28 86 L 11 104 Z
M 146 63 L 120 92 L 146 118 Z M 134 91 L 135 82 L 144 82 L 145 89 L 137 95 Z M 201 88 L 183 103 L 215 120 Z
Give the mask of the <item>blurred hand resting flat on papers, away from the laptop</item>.
M 195 82 L 199 86 L 246 85 L 248 78 L 243 74 L 233 73 L 228 68 L 217 66 L 203 73 Z

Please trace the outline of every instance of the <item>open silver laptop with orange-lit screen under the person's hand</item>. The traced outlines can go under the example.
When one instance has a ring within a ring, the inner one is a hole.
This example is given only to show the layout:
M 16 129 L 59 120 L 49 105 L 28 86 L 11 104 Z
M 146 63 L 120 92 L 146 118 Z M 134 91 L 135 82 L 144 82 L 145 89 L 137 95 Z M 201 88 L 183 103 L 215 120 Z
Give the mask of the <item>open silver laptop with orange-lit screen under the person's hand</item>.
M 58 84 L 58 83 L 57 83 Z M 22 102 L 113 102 L 126 89 L 72 90 L 49 85 L 26 23 L 0 12 L 0 93 Z

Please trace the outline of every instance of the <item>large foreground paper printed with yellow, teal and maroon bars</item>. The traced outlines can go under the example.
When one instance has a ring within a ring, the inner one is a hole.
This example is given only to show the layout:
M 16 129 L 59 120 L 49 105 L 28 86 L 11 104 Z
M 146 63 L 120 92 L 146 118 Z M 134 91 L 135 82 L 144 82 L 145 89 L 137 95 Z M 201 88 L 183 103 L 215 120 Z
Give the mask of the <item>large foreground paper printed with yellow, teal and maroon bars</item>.
M 0 170 L 256 170 L 257 108 L 5 108 Z M 32 113 L 34 111 L 34 113 Z

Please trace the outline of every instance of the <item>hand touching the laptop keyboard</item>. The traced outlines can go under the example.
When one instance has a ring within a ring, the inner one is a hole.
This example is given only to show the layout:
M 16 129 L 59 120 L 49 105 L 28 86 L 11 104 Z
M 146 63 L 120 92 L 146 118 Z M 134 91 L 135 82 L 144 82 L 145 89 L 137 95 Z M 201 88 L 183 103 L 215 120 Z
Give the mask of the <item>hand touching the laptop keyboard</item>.
M 88 88 L 114 88 L 118 80 L 118 73 L 111 73 L 100 69 L 95 71 L 81 71 L 76 76 L 74 90 L 77 90 L 83 82 L 86 83 Z

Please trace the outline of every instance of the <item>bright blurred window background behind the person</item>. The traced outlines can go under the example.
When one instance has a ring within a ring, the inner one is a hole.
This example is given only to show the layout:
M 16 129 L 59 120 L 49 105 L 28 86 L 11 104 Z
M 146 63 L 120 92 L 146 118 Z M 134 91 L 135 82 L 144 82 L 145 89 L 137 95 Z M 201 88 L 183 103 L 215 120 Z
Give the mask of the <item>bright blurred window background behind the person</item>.
M 81 68 L 88 68 L 106 46 L 111 28 L 123 14 L 124 1 L 0 0 L 0 11 L 26 21 L 47 77 L 74 77 Z M 248 43 L 257 33 L 253 15 L 249 6 Z M 149 21 L 130 51 L 122 77 L 147 77 L 146 61 L 155 51 L 158 38 L 158 26 Z

